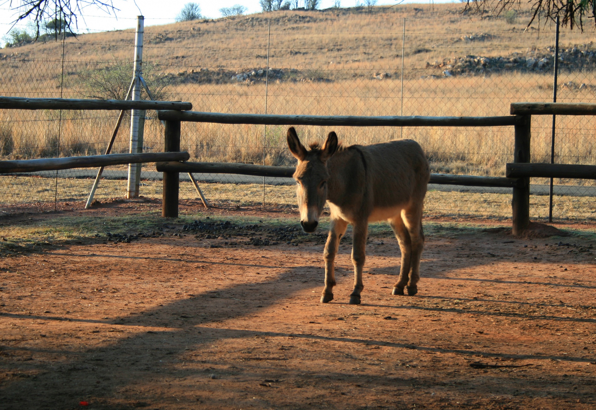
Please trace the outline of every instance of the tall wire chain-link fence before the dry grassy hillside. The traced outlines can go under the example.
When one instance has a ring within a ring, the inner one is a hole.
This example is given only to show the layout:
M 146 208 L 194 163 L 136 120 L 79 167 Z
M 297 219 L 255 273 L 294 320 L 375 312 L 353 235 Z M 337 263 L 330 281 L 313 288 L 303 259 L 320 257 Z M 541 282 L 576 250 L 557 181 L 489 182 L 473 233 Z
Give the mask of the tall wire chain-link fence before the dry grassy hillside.
M 448 5 L 433 17 L 414 6 L 279 11 L 145 27 L 144 77 L 164 100 L 195 111 L 316 115 L 508 115 L 511 102 L 552 101 L 554 29 L 523 31 L 505 17 L 469 17 Z M 520 15 L 520 21 L 527 16 Z M 593 102 L 596 47 L 588 33 L 561 32 L 559 102 Z M 132 76 L 132 30 L 67 37 L 0 54 L 6 96 L 123 98 Z M 146 97 L 145 97 L 146 98 Z M 2 158 L 103 153 L 116 123 L 109 111 L 0 112 Z M 129 121 L 129 120 L 128 120 Z M 532 161 L 550 162 L 551 121 L 532 118 Z M 555 162 L 596 164 L 592 117 L 558 117 Z M 128 152 L 124 121 L 113 152 Z M 285 128 L 183 123 L 191 161 L 291 165 Z M 504 176 L 513 127 L 334 129 L 344 144 L 411 138 L 433 173 Z M 323 139 L 323 127 L 299 127 Z M 163 127 L 147 112 L 144 151 L 163 149 Z M 95 170 L 0 177 L 3 206 L 86 199 Z M 104 171 L 96 198 L 122 198 L 125 167 Z M 140 193 L 161 195 L 161 174 L 145 164 Z M 221 204 L 294 204 L 291 180 L 197 174 L 207 199 Z M 181 175 L 181 198 L 197 199 Z M 510 189 L 431 186 L 432 214 L 509 217 Z M 548 215 L 548 180 L 532 179 L 533 217 Z M 555 218 L 593 218 L 592 180 L 555 180 Z M 78 206 L 78 205 L 77 205 Z

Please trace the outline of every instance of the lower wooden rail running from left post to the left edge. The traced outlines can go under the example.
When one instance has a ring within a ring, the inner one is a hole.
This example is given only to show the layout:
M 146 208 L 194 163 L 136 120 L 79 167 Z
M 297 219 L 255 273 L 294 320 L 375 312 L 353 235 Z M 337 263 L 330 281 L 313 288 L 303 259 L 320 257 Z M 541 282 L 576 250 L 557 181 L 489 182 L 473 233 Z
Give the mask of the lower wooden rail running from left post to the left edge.
M 0 174 L 97 168 L 109 165 L 141 164 L 157 161 L 187 161 L 188 152 L 146 152 L 144 154 L 109 154 L 89 157 L 19 159 L 0 161 Z

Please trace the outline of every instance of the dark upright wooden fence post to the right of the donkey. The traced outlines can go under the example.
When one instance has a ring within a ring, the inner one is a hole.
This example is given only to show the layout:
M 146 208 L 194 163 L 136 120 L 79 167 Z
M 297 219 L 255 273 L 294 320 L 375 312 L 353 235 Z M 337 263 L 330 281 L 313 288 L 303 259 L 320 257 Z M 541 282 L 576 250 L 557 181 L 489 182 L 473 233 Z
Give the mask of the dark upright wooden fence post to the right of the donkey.
M 515 147 L 513 162 L 530 162 L 530 130 L 532 124 L 531 115 L 520 115 L 523 121 L 515 126 Z M 530 224 L 530 178 L 519 179 L 519 185 L 513 188 L 513 200 L 511 201 L 513 211 L 513 227 L 511 233 L 518 236 Z

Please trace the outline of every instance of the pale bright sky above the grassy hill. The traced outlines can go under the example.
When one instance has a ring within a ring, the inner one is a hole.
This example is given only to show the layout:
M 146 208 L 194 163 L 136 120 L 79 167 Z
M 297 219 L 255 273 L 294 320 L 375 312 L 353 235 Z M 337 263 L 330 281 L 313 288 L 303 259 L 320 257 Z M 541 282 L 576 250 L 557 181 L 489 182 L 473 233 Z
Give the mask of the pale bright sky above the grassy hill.
M 429 0 L 405 0 L 407 3 L 425 3 Z M 434 0 L 434 2 L 451 2 L 452 0 Z M 135 27 L 136 16 L 145 16 L 145 27 L 157 24 L 173 23 L 176 14 L 187 4 L 188 0 L 113 0 L 114 7 L 119 9 L 114 14 L 108 14 L 94 6 L 83 8 L 82 15 L 78 19 L 77 33 L 102 32 L 107 30 L 122 30 Z M 219 9 L 230 7 L 234 4 L 242 4 L 248 9 L 246 14 L 261 11 L 259 0 L 218 0 L 218 1 L 194 1 L 201 8 L 201 13 L 208 18 L 221 17 Z M 333 5 L 334 0 L 321 0 L 320 8 L 328 8 Z M 356 0 L 341 0 L 342 7 L 353 7 Z M 362 0 L 361 0 L 362 2 Z M 20 1 L 13 0 L 13 6 Z M 302 4 L 302 0 L 300 0 Z M 166 5 L 164 7 L 164 4 Z M 396 4 L 393 0 L 378 0 L 378 5 Z M 10 8 L 10 0 L 0 0 L 0 38 L 5 36 L 13 26 L 17 13 Z M 18 28 L 25 28 L 26 23 L 18 23 Z

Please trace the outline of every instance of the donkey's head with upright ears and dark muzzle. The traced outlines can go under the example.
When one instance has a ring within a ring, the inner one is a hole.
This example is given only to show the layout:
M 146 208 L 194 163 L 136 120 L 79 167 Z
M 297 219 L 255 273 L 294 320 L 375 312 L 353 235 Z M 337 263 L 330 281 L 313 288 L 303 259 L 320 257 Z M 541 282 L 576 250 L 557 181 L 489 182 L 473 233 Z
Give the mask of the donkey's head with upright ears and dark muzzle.
M 327 201 L 327 159 L 337 149 L 337 135 L 330 132 L 322 147 L 318 144 L 306 149 L 298 139 L 294 127 L 288 129 L 288 147 L 298 160 L 294 179 L 300 208 L 300 225 L 305 232 L 314 232 Z

